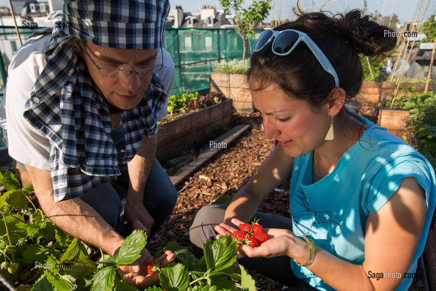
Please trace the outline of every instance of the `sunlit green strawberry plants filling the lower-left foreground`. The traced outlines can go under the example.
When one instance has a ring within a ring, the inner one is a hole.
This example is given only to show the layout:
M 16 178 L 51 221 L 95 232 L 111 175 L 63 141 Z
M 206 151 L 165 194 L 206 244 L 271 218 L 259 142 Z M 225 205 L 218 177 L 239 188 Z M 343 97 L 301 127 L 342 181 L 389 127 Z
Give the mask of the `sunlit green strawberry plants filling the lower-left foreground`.
M 33 283 L 16 286 L 18 290 L 140 290 L 123 282 L 119 266 L 139 258 L 146 245 L 142 230 L 133 231 L 116 256 L 103 254 L 55 226 L 27 197 L 32 187 L 20 187 L 15 176 L 4 169 L 0 169 L 0 174 L 7 190 L 0 196 L 0 273 L 11 283 Z M 27 208 L 27 202 L 32 209 Z M 146 290 L 236 291 L 235 283 L 228 277 L 242 280 L 243 290 L 254 290 L 255 281 L 234 265 L 237 247 L 229 236 L 220 237 L 213 244 L 208 240 L 204 244 L 205 256 L 198 260 L 187 248 L 170 242 L 155 257 L 169 249 L 177 258 L 160 268 L 160 287 Z M 91 258 L 99 253 L 100 259 L 95 263 Z

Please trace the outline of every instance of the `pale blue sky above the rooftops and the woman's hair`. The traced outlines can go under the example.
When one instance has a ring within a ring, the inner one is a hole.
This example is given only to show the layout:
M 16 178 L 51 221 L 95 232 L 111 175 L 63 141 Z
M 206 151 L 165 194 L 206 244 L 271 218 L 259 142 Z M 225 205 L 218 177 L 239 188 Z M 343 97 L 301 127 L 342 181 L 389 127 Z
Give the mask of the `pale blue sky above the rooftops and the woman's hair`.
M 292 7 L 296 6 L 296 0 L 279 0 L 279 9 L 280 9 L 280 18 L 283 18 L 283 1 L 285 6 L 285 19 L 293 18 Z M 301 0 L 300 0 L 301 1 Z M 326 2 L 327 0 L 304 0 L 301 1 L 304 7 L 309 7 L 311 5 L 317 5 Z M 430 15 L 430 12 L 433 14 L 436 13 L 436 5 L 434 5 L 435 0 L 430 0 L 429 7 L 432 8 L 433 11 L 428 11 L 426 14 L 426 18 Z M 259 2 L 259 1 L 258 1 Z M 245 1 L 247 7 L 252 4 L 252 0 Z M 271 3 L 276 3 L 276 0 L 271 0 Z M 383 16 L 390 16 L 392 11 L 392 5 L 394 0 L 366 0 L 366 5 L 368 13 L 375 13 L 377 10 L 383 12 Z M 404 21 L 413 21 L 416 17 L 416 12 L 419 7 L 419 3 L 421 0 L 395 0 L 394 14 L 399 17 L 399 21 L 403 23 Z M 433 4 L 432 4 L 433 3 Z M 176 5 L 180 5 L 184 11 L 198 11 L 198 6 L 203 5 L 216 5 L 217 9 L 220 9 L 220 1 L 219 0 L 203 0 L 202 2 L 198 2 L 195 0 L 170 0 L 171 7 L 174 8 Z M 427 0 L 424 0 L 423 7 L 421 8 L 422 12 L 427 4 Z M 313 8 L 314 10 L 319 10 L 321 6 Z M 362 8 L 362 0 L 338 0 L 334 3 L 325 4 L 323 6 L 323 10 L 327 10 L 330 12 L 343 12 L 344 10 Z M 422 17 L 422 12 L 420 17 Z M 267 18 L 267 21 L 272 19 L 272 11 L 270 12 L 270 16 Z M 276 18 L 276 17 L 275 17 Z M 274 19 L 275 19 L 274 18 Z M 420 21 L 420 18 L 418 19 Z

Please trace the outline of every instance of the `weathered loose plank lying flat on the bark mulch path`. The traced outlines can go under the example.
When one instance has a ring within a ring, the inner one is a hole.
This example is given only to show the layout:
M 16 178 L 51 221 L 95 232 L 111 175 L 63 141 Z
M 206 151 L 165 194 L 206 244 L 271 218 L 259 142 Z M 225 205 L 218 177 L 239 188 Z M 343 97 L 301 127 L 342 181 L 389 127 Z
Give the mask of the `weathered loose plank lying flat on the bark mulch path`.
M 229 144 L 233 140 L 235 140 L 239 135 L 242 135 L 247 129 L 250 128 L 250 125 L 238 125 L 226 132 L 224 135 L 221 135 L 218 139 L 215 139 L 214 142 Z M 217 152 L 221 151 L 222 148 L 210 148 L 210 149 L 202 149 L 200 154 L 197 157 L 197 161 L 191 165 L 187 165 L 183 167 L 182 173 L 177 176 L 171 176 L 171 182 L 173 182 L 174 186 L 183 181 L 186 177 L 188 177 L 192 172 L 194 172 L 199 166 L 206 163 L 208 159 L 213 157 Z

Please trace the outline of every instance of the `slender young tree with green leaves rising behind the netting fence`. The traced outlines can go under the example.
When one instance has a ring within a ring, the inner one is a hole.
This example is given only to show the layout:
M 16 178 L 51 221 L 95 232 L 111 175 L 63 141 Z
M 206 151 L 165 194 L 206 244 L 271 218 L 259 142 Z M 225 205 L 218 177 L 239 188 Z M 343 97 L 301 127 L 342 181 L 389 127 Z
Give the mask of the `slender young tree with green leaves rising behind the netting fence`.
M 246 40 L 255 36 L 254 26 L 261 23 L 269 15 L 272 6 L 269 0 L 253 1 L 248 9 L 242 8 L 244 0 L 220 0 L 220 3 L 225 14 L 233 13 L 234 15 L 235 31 L 242 38 L 244 44 L 242 59 L 245 60 Z

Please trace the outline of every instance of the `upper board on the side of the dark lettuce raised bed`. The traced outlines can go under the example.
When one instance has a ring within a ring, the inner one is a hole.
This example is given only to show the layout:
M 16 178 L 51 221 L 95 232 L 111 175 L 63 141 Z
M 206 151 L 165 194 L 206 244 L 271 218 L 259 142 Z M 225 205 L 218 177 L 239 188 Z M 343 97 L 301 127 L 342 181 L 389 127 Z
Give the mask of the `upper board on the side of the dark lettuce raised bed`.
M 232 115 L 232 100 L 226 100 L 167 122 L 161 125 L 157 132 L 157 146 L 166 145 L 174 139 L 179 139 L 230 115 Z

